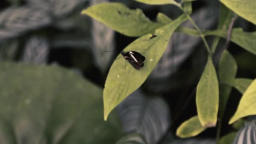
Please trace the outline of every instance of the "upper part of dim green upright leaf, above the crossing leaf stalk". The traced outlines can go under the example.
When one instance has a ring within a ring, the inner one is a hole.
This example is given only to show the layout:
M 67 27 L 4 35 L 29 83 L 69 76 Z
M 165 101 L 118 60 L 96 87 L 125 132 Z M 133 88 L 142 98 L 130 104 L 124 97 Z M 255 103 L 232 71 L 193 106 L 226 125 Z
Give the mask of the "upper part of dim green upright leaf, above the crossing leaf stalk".
M 219 61 L 220 83 L 232 83 L 237 74 L 237 63 L 228 51 L 224 51 Z

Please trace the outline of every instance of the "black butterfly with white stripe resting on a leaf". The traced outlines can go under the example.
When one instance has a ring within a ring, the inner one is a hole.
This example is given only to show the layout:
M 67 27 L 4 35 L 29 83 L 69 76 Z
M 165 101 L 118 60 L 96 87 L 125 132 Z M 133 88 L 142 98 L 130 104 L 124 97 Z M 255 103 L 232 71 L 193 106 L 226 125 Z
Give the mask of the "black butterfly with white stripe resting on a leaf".
M 142 56 L 140 53 L 136 51 L 128 51 L 128 52 L 121 52 L 123 57 L 129 61 L 129 63 L 135 68 L 135 69 L 141 69 L 141 67 L 144 66 L 145 57 Z

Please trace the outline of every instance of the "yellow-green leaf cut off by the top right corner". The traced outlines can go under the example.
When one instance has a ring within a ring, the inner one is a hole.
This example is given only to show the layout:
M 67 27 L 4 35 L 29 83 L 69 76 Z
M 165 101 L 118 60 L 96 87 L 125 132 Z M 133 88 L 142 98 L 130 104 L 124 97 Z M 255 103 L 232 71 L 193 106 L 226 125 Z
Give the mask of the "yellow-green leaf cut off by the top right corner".
M 244 19 L 256 24 L 256 2 L 255 0 L 220 0 L 232 11 Z

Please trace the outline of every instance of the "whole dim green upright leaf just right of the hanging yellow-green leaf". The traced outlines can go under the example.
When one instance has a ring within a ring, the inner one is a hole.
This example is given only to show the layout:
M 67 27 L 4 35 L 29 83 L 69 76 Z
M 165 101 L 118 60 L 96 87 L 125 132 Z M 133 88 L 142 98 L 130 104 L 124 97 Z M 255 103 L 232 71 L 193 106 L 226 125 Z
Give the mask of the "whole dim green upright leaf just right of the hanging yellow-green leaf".
M 224 83 L 232 83 L 237 73 L 237 63 L 228 51 L 224 51 L 219 61 L 219 115 L 223 116 L 232 86 Z

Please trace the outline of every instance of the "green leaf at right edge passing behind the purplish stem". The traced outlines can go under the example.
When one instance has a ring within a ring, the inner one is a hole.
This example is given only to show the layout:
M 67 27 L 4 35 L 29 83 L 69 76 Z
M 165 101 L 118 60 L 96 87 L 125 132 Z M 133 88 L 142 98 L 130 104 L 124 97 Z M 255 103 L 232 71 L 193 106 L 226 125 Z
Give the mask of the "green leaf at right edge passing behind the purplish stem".
M 220 37 L 227 37 L 227 31 L 224 30 L 215 30 L 215 31 L 206 31 L 204 35 L 217 35 Z M 236 28 L 232 30 L 231 41 L 240 45 L 245 50 L 256 54 L 256 32 L 243 32 L 243 29 Z

